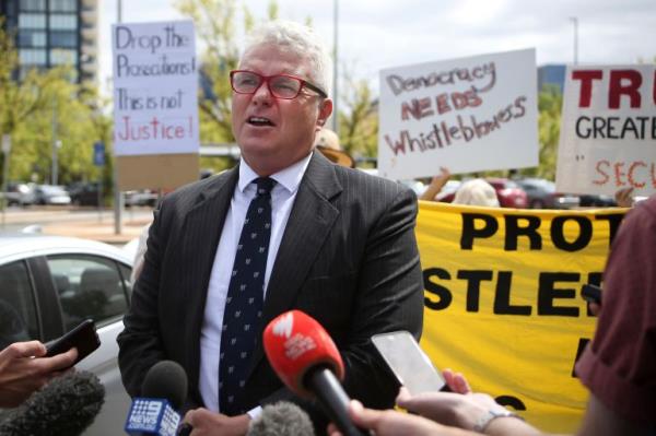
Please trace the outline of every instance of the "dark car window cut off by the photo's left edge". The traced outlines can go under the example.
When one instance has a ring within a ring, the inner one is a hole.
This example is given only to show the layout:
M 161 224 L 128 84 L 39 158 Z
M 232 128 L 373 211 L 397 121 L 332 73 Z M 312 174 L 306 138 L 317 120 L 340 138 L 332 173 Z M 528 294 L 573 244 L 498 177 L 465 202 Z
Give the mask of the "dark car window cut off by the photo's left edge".
M 0 350 L 12 342 L 38 339 L 36 306 L 24 261 L 0 266 Z

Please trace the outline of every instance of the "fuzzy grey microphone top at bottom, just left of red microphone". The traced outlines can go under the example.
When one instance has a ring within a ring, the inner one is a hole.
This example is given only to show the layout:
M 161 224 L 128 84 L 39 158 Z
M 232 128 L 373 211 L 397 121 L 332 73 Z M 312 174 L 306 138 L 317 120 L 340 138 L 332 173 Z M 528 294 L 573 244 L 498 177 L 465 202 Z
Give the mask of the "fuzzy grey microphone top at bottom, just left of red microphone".
M 288 401 L 268 404 L 253 420 L 246 436 L 315 436 L 312 421 L 300 406 Z

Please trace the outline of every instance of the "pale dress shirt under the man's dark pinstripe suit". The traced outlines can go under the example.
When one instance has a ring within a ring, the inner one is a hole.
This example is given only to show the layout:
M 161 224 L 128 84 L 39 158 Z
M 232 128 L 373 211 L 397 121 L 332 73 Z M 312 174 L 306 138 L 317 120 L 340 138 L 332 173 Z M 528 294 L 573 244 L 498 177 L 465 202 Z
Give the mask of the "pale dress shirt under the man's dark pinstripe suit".
M 267 270 L 265 273 L 265 295 L 269 285 L 269 278 L 282 234 L 286 226 L 296 198 L 298 185 L 307 169 L 312 153 L 294 165 L 271 175 L 277 181 L 271 191 L 271 239 L 267 256 Z M 259 176 L 242 158 L 239 163 L 239 180 L 233 193 L 230 210 L 225 215 L 225 223 L 221 232 L 216 257 L 212 266 L 208 298 L 206 302 L 202 328 L 200 331 L 200 374 L 198 386 L 206 408 L 219 411 L 219 354 L 221 352 L 221 329 L 225 310 L 225 298 L 232 275 L 233 263 L 237 252 L 242 227 L 250 200 L 255 197 L 256 185 L 253 180 Z M 219 221 L 219 216 L 216 216 Z M 259 414 L 260 408 L 249 411 L 250 417 Z

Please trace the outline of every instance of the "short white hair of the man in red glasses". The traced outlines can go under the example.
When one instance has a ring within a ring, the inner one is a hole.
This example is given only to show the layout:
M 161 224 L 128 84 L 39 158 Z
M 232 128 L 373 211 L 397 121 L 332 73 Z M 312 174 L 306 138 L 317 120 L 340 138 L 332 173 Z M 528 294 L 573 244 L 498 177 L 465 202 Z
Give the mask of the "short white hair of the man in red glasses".
M 244 55 L 257 46 L 267 44 L 279 46 L 282 50 L 306 59 L 311 67 L 308 80 L 329 94 L 332 59 L 316 32 L 292 21 L 271 21 L 250 33 Z

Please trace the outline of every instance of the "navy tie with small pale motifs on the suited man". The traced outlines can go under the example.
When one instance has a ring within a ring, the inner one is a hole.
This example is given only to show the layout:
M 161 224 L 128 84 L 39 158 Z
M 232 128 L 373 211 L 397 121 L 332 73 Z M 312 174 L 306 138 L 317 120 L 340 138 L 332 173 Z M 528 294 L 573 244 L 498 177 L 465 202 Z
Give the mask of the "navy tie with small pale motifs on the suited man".
M 276 180 L 260 177 L 254 182 L 257 184 L 257 193 L 250 201 L 242 228 L 223 313 L 219 408 L 226 415 L 245 412 L 236 406 L 236 399 L 246 384 L 246 369 L 257 343 L 256 333 L 262 316 L 271 237 L 271 189 Z

